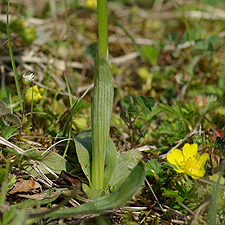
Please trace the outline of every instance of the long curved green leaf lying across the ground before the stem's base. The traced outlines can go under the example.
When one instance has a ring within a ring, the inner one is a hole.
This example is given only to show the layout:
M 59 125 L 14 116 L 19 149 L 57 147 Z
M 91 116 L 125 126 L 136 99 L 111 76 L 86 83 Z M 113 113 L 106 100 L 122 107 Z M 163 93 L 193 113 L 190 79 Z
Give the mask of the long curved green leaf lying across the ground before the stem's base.
M 140 161 L 130 172 L 120 188 L 94 201 L 84 203 L 77 207 L 61 209 L 46 214 L 46 217 L 66 217 L 87 214 L 99 214 L 107 210 L 120 207 L 137 193 L 145 177 L 144 164 Z M 32 216 L 32 215 L 31 215 Z M 35 216 L 35 215 L 34 215 Z M 32 217 L 34 217 L 32 216 Z M 39 217 L 37 214 L 36 217 Z

